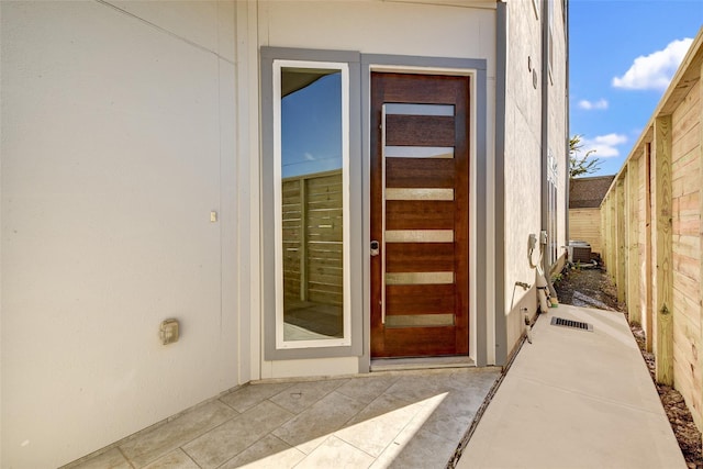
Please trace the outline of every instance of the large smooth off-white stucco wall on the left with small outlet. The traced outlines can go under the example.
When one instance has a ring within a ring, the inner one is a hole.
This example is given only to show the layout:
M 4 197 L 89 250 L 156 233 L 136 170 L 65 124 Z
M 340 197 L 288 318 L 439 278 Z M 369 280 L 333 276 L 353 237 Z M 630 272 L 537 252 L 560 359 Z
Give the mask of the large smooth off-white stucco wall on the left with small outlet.
M 3 468 L 69 462 L 249 379 L 235 4 L 115 5 L 0 4 Z M 167 317 L 181 339 L 163 346 Z

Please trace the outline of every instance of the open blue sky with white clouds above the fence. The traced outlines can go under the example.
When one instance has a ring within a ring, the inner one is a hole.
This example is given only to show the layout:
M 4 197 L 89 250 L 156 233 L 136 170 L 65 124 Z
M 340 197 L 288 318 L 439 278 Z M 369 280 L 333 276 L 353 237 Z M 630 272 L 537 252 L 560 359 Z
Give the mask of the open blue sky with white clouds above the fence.
M 570 0 L 570 135 L 616 174 L 703 26 L 703 0 Z M 581 154 L 583 155 L 583 154 Z

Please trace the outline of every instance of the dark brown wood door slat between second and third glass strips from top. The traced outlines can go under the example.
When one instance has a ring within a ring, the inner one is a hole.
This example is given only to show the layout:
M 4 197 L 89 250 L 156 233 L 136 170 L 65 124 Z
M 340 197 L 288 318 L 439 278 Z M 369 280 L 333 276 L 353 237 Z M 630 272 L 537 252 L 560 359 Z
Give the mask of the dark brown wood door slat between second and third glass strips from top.
M 388 158 L 386 187 L 453 188 L 454 166 L 453 158 Z

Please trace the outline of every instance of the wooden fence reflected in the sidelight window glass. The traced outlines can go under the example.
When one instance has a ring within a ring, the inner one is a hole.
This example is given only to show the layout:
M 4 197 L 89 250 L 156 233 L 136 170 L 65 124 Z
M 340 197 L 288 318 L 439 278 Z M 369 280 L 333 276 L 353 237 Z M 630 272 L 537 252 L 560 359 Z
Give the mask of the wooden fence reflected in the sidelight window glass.
M 342 170 L 283 179 L 283 292 L 287 300 L 342 304 Z

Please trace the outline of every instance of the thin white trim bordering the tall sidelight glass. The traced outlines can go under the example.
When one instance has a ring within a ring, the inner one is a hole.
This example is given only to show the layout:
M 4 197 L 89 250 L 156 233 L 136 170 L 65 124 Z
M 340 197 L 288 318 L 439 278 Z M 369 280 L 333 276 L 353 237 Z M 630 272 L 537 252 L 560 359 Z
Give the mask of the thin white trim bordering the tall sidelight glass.
M 350 214 L 349 214 L 349 66 L 346 63 L 312 60 L 274 60 L 274 216 L 275 216 L 275 273 L 276 273 L 276 348 L 316 348 L 352 345 L 350 277 Z M 283 338 L 283 230 L 281 224 L 281 68 L 312 68 L 342 71 L 342 186 L 343 186 L 343 337 L 313 340 Z

